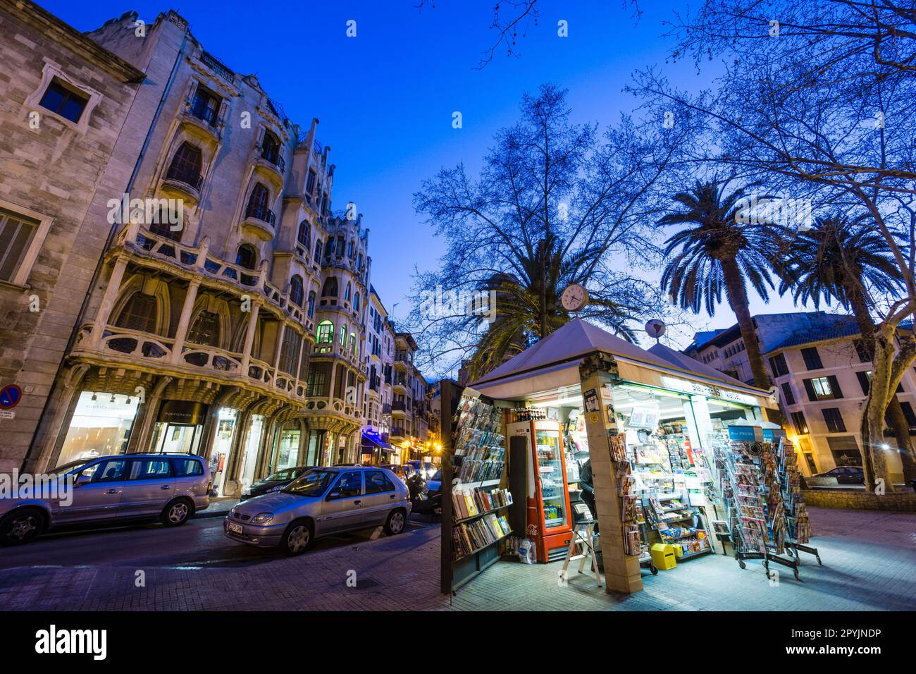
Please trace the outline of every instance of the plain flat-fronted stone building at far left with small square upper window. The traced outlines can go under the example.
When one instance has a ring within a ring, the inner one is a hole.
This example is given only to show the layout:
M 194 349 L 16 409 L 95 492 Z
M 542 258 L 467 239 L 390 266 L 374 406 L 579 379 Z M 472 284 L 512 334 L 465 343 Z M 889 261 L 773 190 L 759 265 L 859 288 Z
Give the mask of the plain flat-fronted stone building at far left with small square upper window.
M 0 387 L 23 392 L 0 417 L 8 472 L 28 454 L 112 231 L 106 202 L 127 189 L 147 135 L 146 116 L 129 113 L 157 94 L 33 3 L 0 0 L 0 34 Z

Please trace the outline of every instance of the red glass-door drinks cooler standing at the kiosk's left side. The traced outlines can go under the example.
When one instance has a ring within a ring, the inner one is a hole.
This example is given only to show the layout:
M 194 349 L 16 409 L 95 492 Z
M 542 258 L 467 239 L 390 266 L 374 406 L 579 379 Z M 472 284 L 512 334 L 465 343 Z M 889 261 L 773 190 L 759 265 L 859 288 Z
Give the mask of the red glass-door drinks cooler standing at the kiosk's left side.
M 534 541 L 539 562 L 565 558 L 573 525 L 560 423 L 551 419 L 519 421 L 507 425 L 507 437 L 513 444 L 524 438 L 528 446 L 524 467 L 526 536 Z M 522 467 L 512 465 L 509 470 Z

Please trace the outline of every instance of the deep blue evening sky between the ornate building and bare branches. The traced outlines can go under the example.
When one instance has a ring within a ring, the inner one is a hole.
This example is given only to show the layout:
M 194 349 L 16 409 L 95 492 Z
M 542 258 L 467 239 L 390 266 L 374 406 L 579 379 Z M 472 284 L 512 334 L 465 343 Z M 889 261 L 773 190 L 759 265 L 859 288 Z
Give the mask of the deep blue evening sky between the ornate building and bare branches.
M 39 0 L 80 30 L 136 9 L 151 23 L 169 1 Z M 668 42 L 661 20 L 685 3 L 644 3 L 638 23 L 615 0 L 568 3 L 542 0 L 538 27 L 518 39 L 518 58 L 497 50 L 475 70 L 495 32 L 488 29 L 494 0 L 439 0 L 418 10 L 417 0 L 322 3 L 264 0 L 184 0 L 171 7 L 191 23 L 204 47 L 236 72 L 257 74 L 267 93 L 303 127 L 321 120 L 318 138 L 331 146 L 333 207 L 354 201 L 370 229 L 372 282 L 389 313 L 406 315 L 405 295 L 416 263 L 431 269 L 442 240 L 411 205 L 420 182 L 442 166 L 478 165 L 497 128 L 518 116 L 523 91 L 554 82 L 569 89 L 575 121 L 616 121 L 634 100 L 621 92 L 634 69 L 663 64 Z M 651 5 L 651 6 L 646 6 Z M 213 13 L 218 7 L 219 12 Z M 345 35 L 357 22 L 357 37 Z M 557 36 L 557 22 L 569 37 Z M 702 87 L 691 62 L 669 66 L 675 82 Z M 453 129 L 453 111 L 463 128 Z M 752 311 L 791 311 L 754 298 Z M 714 320 L 696 316 L 692 328 L 729 326 L 727 306 Z M 687 329 L 677 342 L 686 345 Z M 648 342 L 647 340 L 644 340 Z

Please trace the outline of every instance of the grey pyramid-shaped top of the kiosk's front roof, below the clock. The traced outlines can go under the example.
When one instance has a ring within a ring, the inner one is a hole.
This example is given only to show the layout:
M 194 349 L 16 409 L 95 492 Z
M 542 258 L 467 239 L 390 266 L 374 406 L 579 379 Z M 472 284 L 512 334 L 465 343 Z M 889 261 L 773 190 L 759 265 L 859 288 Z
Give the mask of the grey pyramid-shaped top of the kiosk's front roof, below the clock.
M 662 368 L 671 368 L 671 362 L 661 359 L 646 349 L 630 344 L 626 339 L 611 335 L 598 326 L 586 323 L 581 318 L 573 318 L 572 321 L 541 339 L 533 347 L 527 348 L 515 358 L 507 360 L 496 370 L 487 372 L 479 380 L 474 381 L 471 386 L 474 387 L 478 384 L 503 379 L 529 370 L 537 370 L 566 360 L 581 358 L 585 354 L 593 353 L 594 351 L 605 351 Z M 718 375 L 717 379 L 725 377 L 721 372 L 714 371 Z M 744 386 L 745 384 L 741 385 Z

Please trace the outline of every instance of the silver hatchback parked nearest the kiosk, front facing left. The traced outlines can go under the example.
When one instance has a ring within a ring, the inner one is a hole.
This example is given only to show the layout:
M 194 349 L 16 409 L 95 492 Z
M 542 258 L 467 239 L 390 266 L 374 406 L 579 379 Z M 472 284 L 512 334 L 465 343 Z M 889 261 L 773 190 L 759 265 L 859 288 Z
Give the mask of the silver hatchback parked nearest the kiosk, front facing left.
M 299 555 L 316 538 L 344 531 L 384 526 L 387 534 L 400 534 L 409 514 L 407 486 L 390 470 L 316 468 L 279 492 L 239 503 L 223 528 L 234 541 Z

